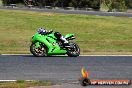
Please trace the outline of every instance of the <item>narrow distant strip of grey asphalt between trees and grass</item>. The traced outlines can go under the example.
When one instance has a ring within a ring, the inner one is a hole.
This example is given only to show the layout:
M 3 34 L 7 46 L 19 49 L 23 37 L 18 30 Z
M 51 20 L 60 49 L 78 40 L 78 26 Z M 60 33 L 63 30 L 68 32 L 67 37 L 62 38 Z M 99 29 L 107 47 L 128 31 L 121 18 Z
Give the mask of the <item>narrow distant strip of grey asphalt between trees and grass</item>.
M 35 12 L 52 12 L 52 13 L 65 13 L 65 14 L 132 17 L 132 13 L 125 13 L 125 12 L 123 13 L 123 12 L 101 12 L 101 11 L 82 11 L 82 10 L 63 10 L 63 9 L 5 8 L 5 7 L 0 7 L 0 9 L 24 10 L 24 11 L 35 11 Z

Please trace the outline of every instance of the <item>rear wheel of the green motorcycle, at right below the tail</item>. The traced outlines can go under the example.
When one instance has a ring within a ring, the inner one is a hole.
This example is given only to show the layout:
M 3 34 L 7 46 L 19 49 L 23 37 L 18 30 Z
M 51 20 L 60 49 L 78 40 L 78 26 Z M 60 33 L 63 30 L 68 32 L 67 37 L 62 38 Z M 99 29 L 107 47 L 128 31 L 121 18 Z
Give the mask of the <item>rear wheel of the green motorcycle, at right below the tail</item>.
M 77 57 L 80 55 L 80 48 L 75 43 L 70 43 L 70 48 L 67 50 L 67 55 L 70 57 Z

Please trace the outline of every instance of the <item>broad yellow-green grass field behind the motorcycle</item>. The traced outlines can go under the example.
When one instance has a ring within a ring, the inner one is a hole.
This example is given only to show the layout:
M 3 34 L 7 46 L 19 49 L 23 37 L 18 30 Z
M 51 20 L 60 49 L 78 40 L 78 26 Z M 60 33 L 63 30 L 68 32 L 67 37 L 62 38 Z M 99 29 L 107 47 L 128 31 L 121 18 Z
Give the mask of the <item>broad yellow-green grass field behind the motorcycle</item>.
M 29 53 L 37 28 L 75 33 L 81 53 L 132 52 L 132 18 L 0 10 L 0 53 Z

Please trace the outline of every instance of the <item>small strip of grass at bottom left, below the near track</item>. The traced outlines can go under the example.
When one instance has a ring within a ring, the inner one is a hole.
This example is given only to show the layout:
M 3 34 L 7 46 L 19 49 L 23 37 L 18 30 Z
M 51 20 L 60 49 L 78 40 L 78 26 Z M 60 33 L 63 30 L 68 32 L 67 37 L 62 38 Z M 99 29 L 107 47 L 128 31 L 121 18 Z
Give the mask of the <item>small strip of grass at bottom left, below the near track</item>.
M 50 82 L 39 81 L 17 81 L 17 82 L 0 82 L 0 88 L 29 88 L 34 86 L 50 86 Z

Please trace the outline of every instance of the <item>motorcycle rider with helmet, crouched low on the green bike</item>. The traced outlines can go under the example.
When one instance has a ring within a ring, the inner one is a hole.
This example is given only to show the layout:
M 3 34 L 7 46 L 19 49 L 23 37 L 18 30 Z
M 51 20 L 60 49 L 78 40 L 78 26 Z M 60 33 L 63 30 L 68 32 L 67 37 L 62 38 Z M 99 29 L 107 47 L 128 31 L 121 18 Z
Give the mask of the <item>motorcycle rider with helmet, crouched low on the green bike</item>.
M 39 28 L 38 33 L 42 35 L 46 35 L 49 34 L 50 32 L 48 32 L 44 28 Z M 59 32 L 55 32 L 54 35 L 57 39 L 61 40 L 64 45 L 68 45 L 69 42 Z

